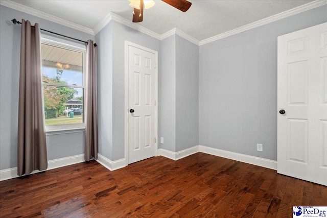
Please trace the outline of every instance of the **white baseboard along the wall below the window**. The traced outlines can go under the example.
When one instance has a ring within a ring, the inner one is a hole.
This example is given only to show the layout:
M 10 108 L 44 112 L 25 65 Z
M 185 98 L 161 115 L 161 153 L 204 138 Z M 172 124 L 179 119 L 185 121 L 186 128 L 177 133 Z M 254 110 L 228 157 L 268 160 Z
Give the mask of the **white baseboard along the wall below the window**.
M 45 171 L 49 171 L 50 169 L 59 168 L 62 166 L 68 166 L 76 163 L 84 162 L 84 154 L 79 154 L 75 156 L 70 157 L 64 157 L 54 160 L 48 161 L 48 168 L 45 169 Z M 31 174 L 39 173 L 41 171 L 33 171 Z M 9 168 L 9 169 L 2 169 L 0 171 L 0 181 L 12 179 L 19 177 L 17 175 L 17 167 Z

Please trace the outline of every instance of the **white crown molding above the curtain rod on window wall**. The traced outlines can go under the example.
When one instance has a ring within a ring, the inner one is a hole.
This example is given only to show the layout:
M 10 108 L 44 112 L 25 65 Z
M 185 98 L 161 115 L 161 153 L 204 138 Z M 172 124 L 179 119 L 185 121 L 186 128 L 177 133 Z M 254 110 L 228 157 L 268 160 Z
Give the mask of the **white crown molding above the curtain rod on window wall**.
M 50 15 L 50 14 L 46 14 L 46 13 L 44 13 L 42 11 L 39 11 L 39 10 L 30 8 L 30 7 L 24 6 L 24 5 L 9 1 L 9 0 L 1 0 L 0 5 L 6 6 L 8 8 L 15 9 L 17 11 L 28 13 L 28 14 L 31 14 L 31 15 L 36 16 L 36 17 L 46 19 L 46 20 L 58 23 L 60 25 L 63 25 L 63 26 L 66 26 L 66 27 L 69 27 L 69 28 L 72 28 L 72 29 L 75 29 L 75 30 L 78 30 L 78 31 L 81 31 L 81 32 L 84 32 L 84 33 L 87 33 L 87 34 L 90 34 L 90 35 L 95 35 L 94 31 L 92 29 L 90 29 L 90 28 L 78 25 L 77 23 L 74 23 L 74 22 L 71 22 L 71 21 L 67 21 L 67 20 L 62 19 L 60 17 L 56 17 L 56 16 L 53 16 L 53 15 Z

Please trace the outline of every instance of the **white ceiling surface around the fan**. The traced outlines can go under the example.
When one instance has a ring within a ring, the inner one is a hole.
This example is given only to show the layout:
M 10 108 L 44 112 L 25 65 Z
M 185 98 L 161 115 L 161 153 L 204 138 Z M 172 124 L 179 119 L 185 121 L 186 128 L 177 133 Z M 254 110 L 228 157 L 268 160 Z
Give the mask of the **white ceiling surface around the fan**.
M 195 1 L 185 13 L 162 2 L 144 11 L 144 21 L 138 23 L 159 35 L 177 28 L 197 40 L 242 27 L 266 17 L 296 8 L 313 0 L 216 0 Z M 132 20 L 133 9 L 127 0 L 14 0 L 44 13 L 97 29 L 110 12 Z

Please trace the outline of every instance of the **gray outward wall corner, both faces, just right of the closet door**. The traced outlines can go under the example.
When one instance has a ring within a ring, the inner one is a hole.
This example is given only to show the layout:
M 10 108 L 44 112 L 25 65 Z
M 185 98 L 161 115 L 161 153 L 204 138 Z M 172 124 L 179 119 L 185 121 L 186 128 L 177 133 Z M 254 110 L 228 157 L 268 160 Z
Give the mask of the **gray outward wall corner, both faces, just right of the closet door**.
M 159 148 L 173 152 L 199 144 L 199 47 L 180 36 L 161 41 Z

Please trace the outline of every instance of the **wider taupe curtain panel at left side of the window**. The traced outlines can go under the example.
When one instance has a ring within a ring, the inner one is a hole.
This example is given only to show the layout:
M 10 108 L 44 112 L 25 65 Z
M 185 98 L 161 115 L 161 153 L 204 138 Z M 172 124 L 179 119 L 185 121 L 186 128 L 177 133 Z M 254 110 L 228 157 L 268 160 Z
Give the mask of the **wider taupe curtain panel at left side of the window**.
M 22 20 L 20 40 L 17 174 L 48 167 L 42 106 L 40 28 Z

